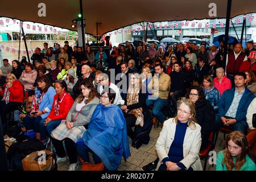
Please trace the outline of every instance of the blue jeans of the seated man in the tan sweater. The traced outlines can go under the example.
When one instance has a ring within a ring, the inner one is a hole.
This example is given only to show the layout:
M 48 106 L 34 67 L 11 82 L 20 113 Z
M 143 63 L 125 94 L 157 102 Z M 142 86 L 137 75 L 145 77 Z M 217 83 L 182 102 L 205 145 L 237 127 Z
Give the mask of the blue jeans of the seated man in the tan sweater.
M 167 105 L 167 103 L 168 103 L 168 100 L 162 99 L 162 98 L 157 98 L 156 100 L 149 100 L 149 99 L 146 100 L 147 106 L 154 105 L 152 114 L 158 119 L 160 123 L 163 123 L 166 120 L 161 110 L 163 109 L 164 106 Z

